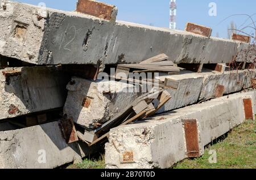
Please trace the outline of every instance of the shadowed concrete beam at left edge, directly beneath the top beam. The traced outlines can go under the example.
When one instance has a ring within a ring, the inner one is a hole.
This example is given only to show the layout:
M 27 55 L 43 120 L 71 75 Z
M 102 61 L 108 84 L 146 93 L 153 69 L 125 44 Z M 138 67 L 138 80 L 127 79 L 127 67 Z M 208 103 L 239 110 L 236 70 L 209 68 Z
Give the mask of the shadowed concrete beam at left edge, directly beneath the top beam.
M 0 119 L 63 107 L 68 81 L 54 66 L 0 70 Z

